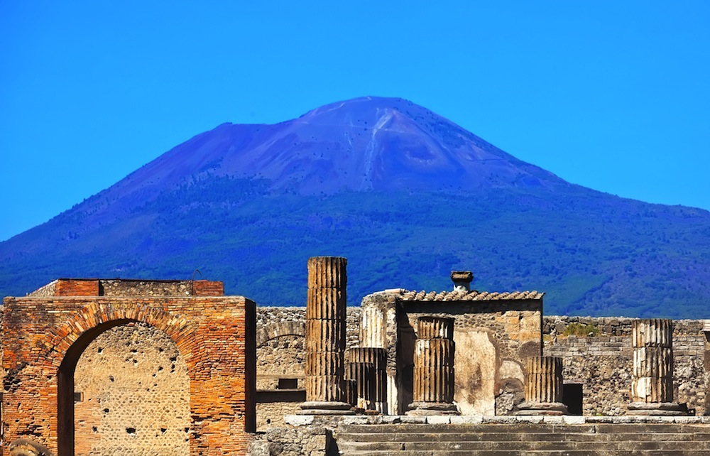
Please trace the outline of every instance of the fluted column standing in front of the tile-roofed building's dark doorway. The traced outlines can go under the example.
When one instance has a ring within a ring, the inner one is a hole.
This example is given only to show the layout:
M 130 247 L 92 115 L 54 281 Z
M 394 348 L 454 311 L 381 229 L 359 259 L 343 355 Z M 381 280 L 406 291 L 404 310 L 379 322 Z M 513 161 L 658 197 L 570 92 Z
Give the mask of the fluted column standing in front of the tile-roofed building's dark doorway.
M 457 415 L 454 404 L 454 319 L 420 317 L 410 415 Z

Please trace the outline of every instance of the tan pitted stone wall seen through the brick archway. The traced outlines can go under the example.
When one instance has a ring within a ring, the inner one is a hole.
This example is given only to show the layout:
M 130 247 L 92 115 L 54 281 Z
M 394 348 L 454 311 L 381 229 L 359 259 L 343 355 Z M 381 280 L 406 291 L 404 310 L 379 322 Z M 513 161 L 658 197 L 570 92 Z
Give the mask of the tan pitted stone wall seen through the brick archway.
M 79 455 L 190 454 L 190 376 L 165 332 L 136 322 L 102 332 L 75 371 Z

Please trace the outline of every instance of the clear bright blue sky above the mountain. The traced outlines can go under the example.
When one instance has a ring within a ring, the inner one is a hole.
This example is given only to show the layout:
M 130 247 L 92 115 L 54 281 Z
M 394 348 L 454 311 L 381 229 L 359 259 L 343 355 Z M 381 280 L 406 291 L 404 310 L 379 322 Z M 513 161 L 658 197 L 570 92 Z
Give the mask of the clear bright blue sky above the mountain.
M 0 240 L 218 124 L 364 95 L 710 210 L 709 23 L 707 1 L 1 1 Z

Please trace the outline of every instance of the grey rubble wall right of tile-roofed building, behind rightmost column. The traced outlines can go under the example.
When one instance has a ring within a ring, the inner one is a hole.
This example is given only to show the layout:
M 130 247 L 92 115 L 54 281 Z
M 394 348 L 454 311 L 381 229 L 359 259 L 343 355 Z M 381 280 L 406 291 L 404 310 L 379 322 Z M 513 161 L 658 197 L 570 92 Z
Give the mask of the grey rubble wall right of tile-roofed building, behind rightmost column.
M 633 348 L 631 318 L 545 317 L 545 355 L 562 357 L 565 383 L 579 383 L 584 415 L 623 415 L 628 410 Z M 702 320 L 674 320 L 674 400 L 697 415 L 706 400 L 710 363 Z

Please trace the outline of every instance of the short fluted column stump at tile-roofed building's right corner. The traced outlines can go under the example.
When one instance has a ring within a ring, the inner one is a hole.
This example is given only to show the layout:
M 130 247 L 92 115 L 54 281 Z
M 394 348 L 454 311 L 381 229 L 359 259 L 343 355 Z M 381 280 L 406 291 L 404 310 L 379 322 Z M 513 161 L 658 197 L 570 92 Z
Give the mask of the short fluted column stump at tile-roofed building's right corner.
M 562 358 L 525 359 L 525 402 L 518 415 L 566 415 L 562 403 Z

